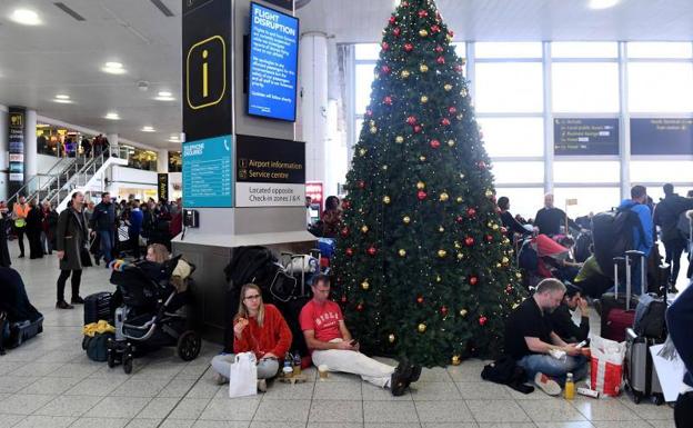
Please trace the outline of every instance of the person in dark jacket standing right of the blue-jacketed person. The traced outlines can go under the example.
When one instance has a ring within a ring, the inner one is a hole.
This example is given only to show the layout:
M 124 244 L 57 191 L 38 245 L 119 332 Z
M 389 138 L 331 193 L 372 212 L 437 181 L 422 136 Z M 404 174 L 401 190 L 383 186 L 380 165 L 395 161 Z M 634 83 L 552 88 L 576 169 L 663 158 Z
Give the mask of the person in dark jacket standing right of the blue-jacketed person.
M 677 222 L 682 212 L 693 209 L 693 199 L 674 193 L 674 186 L 664 185 L 664 199 L 654 209 L 654 225 L 662 232 L 662 242 L 666 250 L 666 262 L 671 266 L 670 289 L 676 292 L 676 279 L 681 269 L 681 255 L 686 246 L 684 236 L 679 230 Z

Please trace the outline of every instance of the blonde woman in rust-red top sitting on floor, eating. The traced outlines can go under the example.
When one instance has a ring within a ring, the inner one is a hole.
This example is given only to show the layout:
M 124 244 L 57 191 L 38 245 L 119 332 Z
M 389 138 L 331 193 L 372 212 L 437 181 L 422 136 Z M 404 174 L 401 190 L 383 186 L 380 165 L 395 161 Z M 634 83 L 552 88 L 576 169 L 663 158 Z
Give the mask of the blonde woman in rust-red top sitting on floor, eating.
M 279 372 L 279 360 L 291 347 L 291 330 L 274 305 L 262 302 L 262 291 L 254 283 L 241 289 L 239 310 L 233 319 L 233 352 L 252 351 L 258 358 L 258 389 L 267 390 L 265 379 Z M 229 381 L 233 354 L 218 355 L 212 359 L 217 384 Z

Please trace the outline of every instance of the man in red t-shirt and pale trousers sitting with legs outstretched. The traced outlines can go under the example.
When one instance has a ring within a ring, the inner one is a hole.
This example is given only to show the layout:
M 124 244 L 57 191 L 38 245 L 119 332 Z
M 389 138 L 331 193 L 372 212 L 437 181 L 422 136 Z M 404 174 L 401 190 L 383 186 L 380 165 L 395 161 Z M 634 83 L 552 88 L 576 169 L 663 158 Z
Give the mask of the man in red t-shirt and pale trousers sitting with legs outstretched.
M 351 337 L 342 310 L 328 299 L 328 276 L 315 276 L 312 289 L 313 299 L 301 309 L 300 321 L 315 366 L 327 366 L 330 371 L 359 375 L 366 382 L 390 388 L 393 396 L 403 395 L 411 382 L 419 380 L 420 366 L 401 361 L 395 368 L 359 352 L 359 344 Z

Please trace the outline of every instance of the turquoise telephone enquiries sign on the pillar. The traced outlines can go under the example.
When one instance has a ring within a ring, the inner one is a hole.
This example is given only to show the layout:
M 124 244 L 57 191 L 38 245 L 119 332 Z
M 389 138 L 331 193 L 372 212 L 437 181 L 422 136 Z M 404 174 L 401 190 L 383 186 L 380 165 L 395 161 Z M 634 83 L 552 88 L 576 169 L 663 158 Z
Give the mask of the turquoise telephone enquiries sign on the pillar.
M 233 137 L 183 143 L 183 205 L 187 208 L 233 206 Z

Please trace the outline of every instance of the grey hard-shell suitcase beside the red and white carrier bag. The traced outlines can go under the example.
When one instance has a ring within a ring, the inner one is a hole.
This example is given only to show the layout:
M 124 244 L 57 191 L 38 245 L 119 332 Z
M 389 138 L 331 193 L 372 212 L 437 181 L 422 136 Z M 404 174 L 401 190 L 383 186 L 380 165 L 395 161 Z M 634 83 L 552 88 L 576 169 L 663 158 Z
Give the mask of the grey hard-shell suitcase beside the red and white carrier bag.
M 664 402 L 660 378 L 650 354 L 650 347 L 661 342 L 654 338 L 639 336 L 632 328 L 626 330 L 623 377 L 635 404 L 640 404 L 646 397 L 653 397 L 657 406 Z

